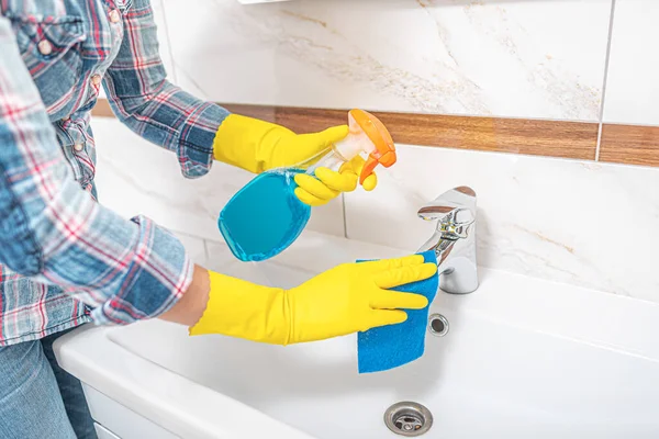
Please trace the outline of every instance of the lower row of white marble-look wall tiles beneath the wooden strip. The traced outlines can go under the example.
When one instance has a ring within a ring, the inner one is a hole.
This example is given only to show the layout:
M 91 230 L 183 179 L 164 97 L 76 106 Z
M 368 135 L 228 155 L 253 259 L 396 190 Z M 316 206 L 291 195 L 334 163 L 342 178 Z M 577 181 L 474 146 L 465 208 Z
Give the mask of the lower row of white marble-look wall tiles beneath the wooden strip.
M 181 233 L 193 260 L 214 269 L 235 260 L 217 213 L 250 176 L 216 166 L 180 176 L 174 155 L 113 119 L 96 119 L 100 200 L 125 217 L 145 214 Z M 479 263 L 659 302 L 658 168 L 399 145 L 399 162 L 376 191 L 345 196 L 347 236 L 415 251 L 433 224 L 417 210 L 444 191 L 478 194 Z M 126 161 L 125 157 L 137 159 Z M 315 210 L 310 229 L 343 236 L 340 202 Z

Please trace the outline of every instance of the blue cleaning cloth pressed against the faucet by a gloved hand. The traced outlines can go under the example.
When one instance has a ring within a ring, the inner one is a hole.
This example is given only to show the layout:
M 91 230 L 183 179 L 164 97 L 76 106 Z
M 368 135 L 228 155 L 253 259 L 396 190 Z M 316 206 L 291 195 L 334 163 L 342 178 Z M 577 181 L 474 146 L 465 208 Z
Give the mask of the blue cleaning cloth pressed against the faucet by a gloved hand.
M 434 251 L 422 254 L 426 262 L 437 263 Z M 364 261 L 358 261 L 364 262 Z M 425 331 L 428 320 L 428 307 L 433 303 L 439 275 L 401 285 L 394 291 L 423 294 L 428 306 L 423 309 L 405 309 L 407 319 L 398 325 L 372 328 L 357 336 L 357 359 L 359 373 L 381 372 L 412 362 L 425 350 Z

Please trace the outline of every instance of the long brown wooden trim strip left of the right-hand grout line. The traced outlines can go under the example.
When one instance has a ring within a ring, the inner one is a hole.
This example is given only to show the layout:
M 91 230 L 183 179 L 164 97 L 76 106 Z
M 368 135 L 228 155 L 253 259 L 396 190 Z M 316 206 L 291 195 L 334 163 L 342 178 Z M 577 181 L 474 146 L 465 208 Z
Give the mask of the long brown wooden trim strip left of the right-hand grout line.
M 297 133 L 346 122 L 346 110 L 221 104 L 231 112 L 259 117 Z M 99 100 L 96 116 L 112 116 Z M 594 160 L 599 124 L 422 113 L 375 112 L 400 144 Z

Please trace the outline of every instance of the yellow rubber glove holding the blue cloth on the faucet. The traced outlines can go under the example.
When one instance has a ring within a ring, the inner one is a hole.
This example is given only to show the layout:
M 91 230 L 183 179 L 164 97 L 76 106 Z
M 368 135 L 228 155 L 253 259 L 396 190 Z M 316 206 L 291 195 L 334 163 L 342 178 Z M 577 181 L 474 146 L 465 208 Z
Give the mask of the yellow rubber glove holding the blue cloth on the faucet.
M 346 263 L 291 290 L 210 273 L 206 309 L 190 335 L 223 334 L 273 345 L 323 340 L 405 322 L 423 295 L 388 289 L 434 275 L 423 256 Z

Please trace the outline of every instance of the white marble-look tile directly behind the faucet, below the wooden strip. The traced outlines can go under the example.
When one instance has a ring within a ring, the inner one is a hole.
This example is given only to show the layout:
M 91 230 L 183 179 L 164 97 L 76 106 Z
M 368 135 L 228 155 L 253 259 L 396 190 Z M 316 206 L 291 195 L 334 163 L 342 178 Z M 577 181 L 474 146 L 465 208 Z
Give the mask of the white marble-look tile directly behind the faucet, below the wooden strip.
M 346 196 L 348 237 L 416 251 L 417 210 L 448 189 L 478 194 L 485 267 L 659 302 L 659 169 L 399 147 L 372 193 Z

